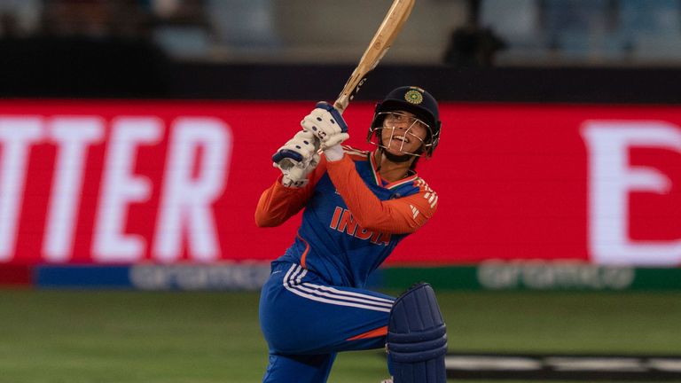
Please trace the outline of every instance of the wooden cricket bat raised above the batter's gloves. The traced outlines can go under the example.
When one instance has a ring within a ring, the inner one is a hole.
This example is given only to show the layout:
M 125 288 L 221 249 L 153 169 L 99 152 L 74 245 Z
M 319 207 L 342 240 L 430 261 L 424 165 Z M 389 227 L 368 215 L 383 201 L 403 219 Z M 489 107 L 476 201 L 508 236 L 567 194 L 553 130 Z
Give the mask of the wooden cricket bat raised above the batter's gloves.
M 380 23 L 379 29 L 373 35 L 372 42 L 364 51 L 362 59 L 359 59 L 355 70 L 350 74 L 348 82 L 346 82 L 343 90 L 333 106 L 338 109 L 340 113 L 345 111 L 352 98 L 355 97 L 356 92 L 366 81 L 366 75 L 369 74 L 378 64 L 380 59 L 385 56 L 387 50 L 395 41 L 395 37 L 399 35 L 404 23 L 409 18 L 411 8 L 414 7 L 416 0 L 394 0 L 390 9 L 387 11 L 386 17 Z

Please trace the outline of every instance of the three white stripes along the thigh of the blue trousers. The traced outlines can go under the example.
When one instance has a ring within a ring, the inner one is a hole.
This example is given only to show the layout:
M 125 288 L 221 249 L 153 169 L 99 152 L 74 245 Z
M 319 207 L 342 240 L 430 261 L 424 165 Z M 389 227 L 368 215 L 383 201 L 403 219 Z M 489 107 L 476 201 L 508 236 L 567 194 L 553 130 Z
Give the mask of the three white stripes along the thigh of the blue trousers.
M 291 266 L 291 269 L 286 272 L 284 277 L 284 287 L 286 287 L 286 290 L 311 301 L 320 301 L 338 306 L 383 312 L 390 312 L 390 309 L 393 307 L 393 301 L 385 298 L 363 293 L 346 292 L 333 287 L 314 285 L 308 282 L 301 284 L 302 277 L 305 277 L 307 273 L 308 270 L 302 269 L 300 265 Z

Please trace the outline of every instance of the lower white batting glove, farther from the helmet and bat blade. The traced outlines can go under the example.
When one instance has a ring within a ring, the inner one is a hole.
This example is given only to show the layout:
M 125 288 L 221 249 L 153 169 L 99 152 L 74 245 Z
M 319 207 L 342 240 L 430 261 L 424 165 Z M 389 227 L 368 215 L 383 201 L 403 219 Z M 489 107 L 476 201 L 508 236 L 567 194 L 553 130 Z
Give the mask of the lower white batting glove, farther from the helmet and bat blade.
M 272 156 L 272 166 L 284 175 L 281 184 L 301 188 L 308 184 L 309 172 L 319 163 L 319 139 L 312 132 L 299 131 Z

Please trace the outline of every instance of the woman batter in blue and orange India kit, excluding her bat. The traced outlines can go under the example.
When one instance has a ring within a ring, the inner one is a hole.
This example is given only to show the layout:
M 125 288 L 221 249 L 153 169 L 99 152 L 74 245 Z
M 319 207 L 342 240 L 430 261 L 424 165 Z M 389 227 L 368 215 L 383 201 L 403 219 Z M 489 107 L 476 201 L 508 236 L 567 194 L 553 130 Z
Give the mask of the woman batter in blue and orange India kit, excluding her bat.
M 258 226 L 272 227 L 304 208 L 293 245 L 272 262 L 262 288 L 260 324 L 270 347 L 262 381 L 325 382 L 337 352 L 386 346 L 395 383 L 444 381 L 443 356 L 424 362 L 422 373 L 395 362 L 398 356 L 412 363 L 446 351 L 432 293 L 410 294 L 419 297 L 405 297 L 404 308 L 397 309 L 395 298 L 364 288 L 369 274 L 437 209 L 437 194 L 415 171 L 419 158 L 431 156 L 440 139 L 435 99 L 417 87 L 391 91 L 376 106 L 367 137 L 377 146 L 372 152 L 340 146 L 348 128 L 326 103 L 317 104 L 301 126 L 272 157 L 282 175 L 262 193 L 255 211 Z M 426 346 L 422 337 L 399 334 L 433 326 L 437 333 Z M 391 340 L 388 332 L 397 335 Z M 403 354 L 401 341 L 407 346 Z M 417 343 L 427 356 L 414 354 Z M 439 370 L 429 370 L 427 363 Z

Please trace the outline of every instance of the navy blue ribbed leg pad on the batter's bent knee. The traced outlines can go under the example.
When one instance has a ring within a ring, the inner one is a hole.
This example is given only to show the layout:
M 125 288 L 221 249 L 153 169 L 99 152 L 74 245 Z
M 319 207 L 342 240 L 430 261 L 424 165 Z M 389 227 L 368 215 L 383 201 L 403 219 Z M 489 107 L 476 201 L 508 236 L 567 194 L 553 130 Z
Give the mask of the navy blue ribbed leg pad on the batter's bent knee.
M 430 285 L 414 285 L 397 298 L 387 326 L 395 383 L 444 383 L 446 332 Z

